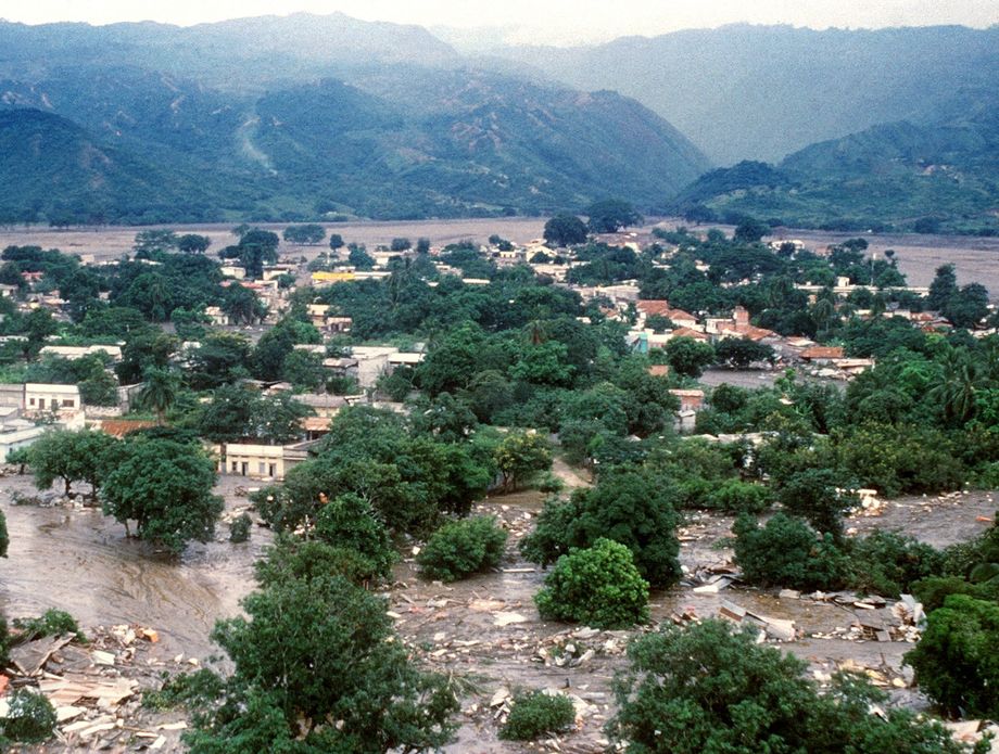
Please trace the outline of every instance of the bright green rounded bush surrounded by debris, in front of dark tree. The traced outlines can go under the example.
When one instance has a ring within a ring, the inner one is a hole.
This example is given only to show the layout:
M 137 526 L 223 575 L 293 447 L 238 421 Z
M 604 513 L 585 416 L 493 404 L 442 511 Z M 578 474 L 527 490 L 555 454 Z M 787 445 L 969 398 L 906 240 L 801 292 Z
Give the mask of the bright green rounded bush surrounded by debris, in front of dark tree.
M 627 628 L 648 619 L 648 582 L 631 550 L 600 538 L 559 558 L 534 602 L 545 619 Z

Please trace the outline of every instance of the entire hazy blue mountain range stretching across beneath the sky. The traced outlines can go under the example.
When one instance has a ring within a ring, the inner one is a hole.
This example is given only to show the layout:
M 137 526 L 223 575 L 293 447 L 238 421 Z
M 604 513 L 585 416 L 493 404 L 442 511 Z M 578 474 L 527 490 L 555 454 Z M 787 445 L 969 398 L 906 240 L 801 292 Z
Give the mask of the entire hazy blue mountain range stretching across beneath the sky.
M 935 213 L 960 230 L 997 207 L 997 27 L 729 26 L 469 57 L 342 14 L 0 23 L 0 220 L 548 214 L 619 196 L 810 225 Z M 709 172 L 746 159 L 780 180 Z

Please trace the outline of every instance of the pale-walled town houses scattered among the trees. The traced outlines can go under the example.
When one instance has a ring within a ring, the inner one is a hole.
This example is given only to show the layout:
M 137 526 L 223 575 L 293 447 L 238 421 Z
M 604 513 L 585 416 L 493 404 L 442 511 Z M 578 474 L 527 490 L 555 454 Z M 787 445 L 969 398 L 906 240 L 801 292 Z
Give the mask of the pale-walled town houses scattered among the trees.
M 635 233 L 612 234 L 602 237 L 599 240 L 630 247 L 636 252 L 641 248 L 641 239 Z M 742 307 L 736 307 L 729 317 L 708 317 L 671 306 L 668 301 L 642 299 L 635 281 L 604 286 L 572 284 L 567 281 L 568 271 L 573 266 L 585 263 L 576 259 L 570 250 L 559 250 L 560 258 L 553 260 L 555 253 L 541 240 L 520 246 L 509 243 L 497 246 L 484 245 L 480 247 L 480 253 L 501 267 L 527 264 L 535 273 L 552 279 L 555 285 L 577 291 L 584 301 L 599 301 L 605 316 L 630 323 L 625 336 L 627 342 L 637 353 L 647 354 L 653 349 L 662 348 L 675 337 L 690 337 L 706 343 L 718 343 L 725 338 L 744 338 L 767 344 L 774 349 L 776 359 L 774 365 L 767 365 L 770 368 L 781 369 L 795 365 L 820 378 L 847 380 L 873 366 L 870 359 L 845 357 L 839 347 L 821 346 L 805 337 L 781 336 L 771 330 L 756 327 L 749 321 L 749 312 Z M 338 263 L 342 265 L 345 261 L 344 252 L 341 251 L 337 256 Z M 261 280 L 248 280 L 243 268 L 231 260 L 223 263 L 220 270 L 226 277 L 224 285 L 246 287 L 266 305 L 268 314 L 262 323 L 266 327 L 280 319 L 288 309 L 290 296 L 295 290 L 294 284 L 282 286 L 282 279 L 287 282 L 287 278 L 291 277 L 298 282 L 304 278 L 314 289 L 361 280 L 377 280 L 391 274 L 388 267 L 392 256 L 397 255 L 381 250 L 377 251 L 374 255 L 376 264 L 370 270 L 337 266 L 331 269 L 305 272 L 302 264 L 276 264 L 265 267 Z M 430 259 L 440 272 L 453 273 L 469 285 L 489 284 L 488 280 L 464 278 L 460 270 L 446 266 L 440 256 L 441 250 L 430 250 Z M 93 259 L 84 259 L 84 263 L 93 264 Z M 666 267 L 668 260 L 657 260 L 654 264 Z M 707 269 L 707 265 L 699 264 L 698 268 Z M 38 276 L 40 273 L 25 274 Z M 28 280 L 28 282 L 37 282 L 37 280 Z M 810 294 L 818 293 L 815 286 L 799 285 L 798 287 Z M 851 285 L 849 280 L 839 279 L 834 292 L 840 296 L 848 296 L 858 287 L 864 286 Z M 921 289 L 910 290 L 925 293 Z M 14 296 L 16 291 L 16 286 L 0 285 L 0 296 Z M 31 294 L 18 305 L 28 308 L 47 307 L 60 317 L 65 316 L 63 314 L 64 302 L 60 298 L 58 291 Z M 945 324 L 933 314 L 901 310 L 885 314 L 908 318 L 914 327 L 924 329 L 938 329 Z M 218 306 L 206 307 L 205 315 L 214 327 L 236 327 L 229 315 Z M 323 333 L 324 340 L 350 333 L 353 324 L 350 317 L 320 303 L 309 304 L 307 316 L 312 324 Z M 200 347 L 198 343 L 186 343 L 181 353 L 189 355 L 198 347 Z M 304 439 L 284 446 L 252 442 L 213 445 L 211 450 L 217 458 L 220 473 L 254 480 L 283 478 L 291 468 L 306 459 L 311 445 L 329 432 L 330 423 L 339 410 L 344 406 L 374 401 L 374 388 L 379 378 L 391 374 L 395 369 L 415 367 L 423 360 L 426 350 L 423 344 L 416 344 L 408 349 L 377 344 L 355 345 L 336 352 L 330 352 L 326 344 L 296 345 L 295 348 L 320 356 L 321 363 L 330 376 L 350 378 L 356 381 L 359 387 L 358 395 L 338 396 L 325 393 L 296 395 L 298 400 L 306 404 L 314 411 L 314 416 L 302 421 Z M 119 345 L 64 346 L 51 344 L 42 349 L 43 355 L 67 359 L 99 353 L 112 362 L 122 358 Z M 669 374 L 669 368 L 653 366 L 649 372 L 656 376 L 666 378 Z M 267 392 L 291 389 L 291 385 L 287 383 L 253 384 Z M 75 385 L 0 384 L 0 461 L 5 460 L 12 450 L 29 445 L 53 425 L 69 429 L 79 429 L 85 425 L 99 426 L 118 436 L 142 429 L 149 422 L 122 419 L 119 416 L 128 410 L 130 397 L 140 387 L 137 385 L 122 388 L 119 406 L 108 409 L 84 406 L 79 389 Z M 692 388 L 674 389 L 672 393 L 680 402 L 676 426 L 682 431 L 692 430 L 697 411 L 704 406 L 704 392 Z M 387 406 L 401 410 L 397 405 L 387 404 Z

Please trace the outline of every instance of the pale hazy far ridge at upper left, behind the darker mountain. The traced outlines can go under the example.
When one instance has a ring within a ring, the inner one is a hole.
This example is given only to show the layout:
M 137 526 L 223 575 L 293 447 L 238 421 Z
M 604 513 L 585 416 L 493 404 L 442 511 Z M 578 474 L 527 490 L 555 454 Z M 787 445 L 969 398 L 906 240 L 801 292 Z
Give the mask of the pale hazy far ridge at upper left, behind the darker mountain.
M 419 26 L 358 21 L 342 13 L 258 16 L 191 27 L 0 22 L 0 77 L 37 81 L 65 66 L 134 66 L 211 87 L 255 91 L 338 67 L 413 60 L 427 66 L 458 57 Z

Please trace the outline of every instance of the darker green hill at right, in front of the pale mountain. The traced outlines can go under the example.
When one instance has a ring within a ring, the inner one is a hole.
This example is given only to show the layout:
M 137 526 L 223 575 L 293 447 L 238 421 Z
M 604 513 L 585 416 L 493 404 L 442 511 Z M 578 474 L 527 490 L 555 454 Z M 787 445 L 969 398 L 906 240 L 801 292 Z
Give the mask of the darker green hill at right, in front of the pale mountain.
M 999 232 L 999 97 L 950 119 L 898 122 L 807 146 L 779 165 L 705 174 L 673 201 L 692 219 L 742 216 L 834 230 Z

